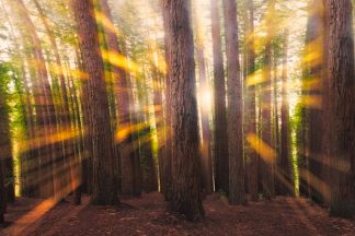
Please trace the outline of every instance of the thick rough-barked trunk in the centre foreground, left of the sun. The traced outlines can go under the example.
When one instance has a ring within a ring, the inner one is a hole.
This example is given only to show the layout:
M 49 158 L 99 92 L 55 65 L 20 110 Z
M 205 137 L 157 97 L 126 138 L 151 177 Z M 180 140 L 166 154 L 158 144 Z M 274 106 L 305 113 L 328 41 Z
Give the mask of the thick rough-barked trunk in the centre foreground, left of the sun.
M 199 138 L 195 97 L 195 61 L 190 22 L 191 2 L 163 0 L 168 16 L 171 66 L 172 188 L 170 210 L 188 220 L 204 214 L 201 198 Z

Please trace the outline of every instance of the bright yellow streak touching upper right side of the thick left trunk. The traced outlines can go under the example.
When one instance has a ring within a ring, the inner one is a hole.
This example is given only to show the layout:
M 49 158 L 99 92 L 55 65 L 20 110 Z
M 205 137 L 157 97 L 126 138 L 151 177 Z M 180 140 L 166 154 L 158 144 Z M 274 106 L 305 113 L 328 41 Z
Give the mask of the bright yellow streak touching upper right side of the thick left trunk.
M 129 60 L 123 55 L 114 51 L 104 51 L 102 58 L 115 67 L 119 67 L 129 72 L 138 72 L 139 67 L 136 62 Z

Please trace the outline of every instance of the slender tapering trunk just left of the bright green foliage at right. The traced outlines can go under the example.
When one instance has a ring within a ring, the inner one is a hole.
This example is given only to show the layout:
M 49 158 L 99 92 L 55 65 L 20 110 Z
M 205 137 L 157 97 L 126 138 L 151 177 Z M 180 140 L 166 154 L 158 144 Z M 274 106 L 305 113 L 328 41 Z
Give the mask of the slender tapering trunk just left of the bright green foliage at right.
M 287 85 L 287 57 L 288 57 L 288 32 L 284 33 L 283 43 L 283 79 L 282 79 L 282 127 L 280 127 L 280 161 L 279 161 L 279 193 L 294 196 L 294 179 L 291 175 L 290 130 L 289 130 L 289 105 Z

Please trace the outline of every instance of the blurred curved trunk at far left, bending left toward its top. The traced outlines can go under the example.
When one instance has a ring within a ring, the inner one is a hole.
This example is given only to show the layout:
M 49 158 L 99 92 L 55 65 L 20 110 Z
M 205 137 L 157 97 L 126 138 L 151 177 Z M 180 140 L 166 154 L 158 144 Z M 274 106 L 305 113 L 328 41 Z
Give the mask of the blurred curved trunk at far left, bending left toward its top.
M 30 61 L 31 70 L 36 70 L 37 78 L 32 76 L 33 94 L 35 101 L 35 114 L 36 114 L 36 129 L 35 137 L 43 138 L 44 143 L 36 143 L 37 156 L 41 166 L 34 167 L 39 170 L 38 174 L 33 175 L 32 181 L 34 181 L 34 196 L 48 198 L 60 191 L 60 187 L 54 181 L 54 161 L 56 160 L 55 153 L 58 145 L 51 140 L 57 132 L 55 107 L 51 97 L 50 84 L 48 81 L 48 73 L 46 69 L 46 61 L 43 55 L 39 37 L 36 33 L 34 23 L 32 22 L 28 10 L 22 0 L 15 0 L 13 2 L 14 10 L 22 16 L 21 22 L 27 28 L 30 34 L 30 40 L 32 44 L 32 50 L 34 55 L 34 61 Z M 44 148 L 43 148 L 44 146 Z

